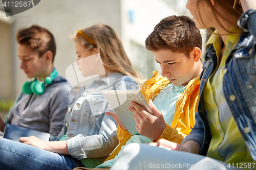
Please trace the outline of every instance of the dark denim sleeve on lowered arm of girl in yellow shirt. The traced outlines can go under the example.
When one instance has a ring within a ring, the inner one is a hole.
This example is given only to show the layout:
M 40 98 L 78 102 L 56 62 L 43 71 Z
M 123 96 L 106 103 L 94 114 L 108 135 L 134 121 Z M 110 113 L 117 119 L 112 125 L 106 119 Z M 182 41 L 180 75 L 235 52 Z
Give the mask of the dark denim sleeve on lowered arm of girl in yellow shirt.
M 193 129 L 191 130 L 191 132 L 189 133 L 189 135 L 187 135 L 181 144 L 184 144 L 186 141 L 188 140 L 195 140 L 197 141 L 201 147 L 203 145 L 203 141 L 204 141 L 204 125 L 203 122 L 201 120 L 201 118 L 198 115 L 198 112 L 195 115 L 195 119 L 196 119 L 196 124 L 193 127 Z

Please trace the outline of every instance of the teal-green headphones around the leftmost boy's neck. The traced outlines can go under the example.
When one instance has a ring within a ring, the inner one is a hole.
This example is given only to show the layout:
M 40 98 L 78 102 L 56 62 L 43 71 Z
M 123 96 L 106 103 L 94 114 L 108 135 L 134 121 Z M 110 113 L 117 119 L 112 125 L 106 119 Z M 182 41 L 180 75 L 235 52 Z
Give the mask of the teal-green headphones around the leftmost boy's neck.
M 58 72 L 56 71 L 56 68 L 53 69 L 49 77 L 46 77 L 45 83 L 46 84 L 52 84 L 52 81 L 58 76 Z M 34 93 L 36 95 L 40 95 L 45 92 L 45 83 L 43 81 L 37 81 L 35 78 L 34 81 L 26 82 L 22 86 L 22 91 L 25 94 L 31 94 Z

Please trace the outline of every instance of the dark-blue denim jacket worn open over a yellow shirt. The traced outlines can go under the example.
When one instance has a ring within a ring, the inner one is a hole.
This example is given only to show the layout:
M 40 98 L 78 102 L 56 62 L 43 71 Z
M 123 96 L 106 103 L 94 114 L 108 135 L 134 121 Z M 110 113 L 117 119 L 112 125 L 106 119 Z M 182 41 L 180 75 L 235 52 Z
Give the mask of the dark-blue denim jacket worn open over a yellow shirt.
M 237 46 L 225 62 L 223 90 L 252 159 L 256 160 L 256 10 L 247 10 L 239 18 L 238 25 L 245 31 Z M 206 52 L 200 78 L 200 100 L 196 124 L 182 141 L 195 140 L 201 145 L 201 155 L 206 155 L 211 140 L 209 123 L 204 110 L 202 91 L 209 76 L 218 65 L 216 52 L 211 46 Z

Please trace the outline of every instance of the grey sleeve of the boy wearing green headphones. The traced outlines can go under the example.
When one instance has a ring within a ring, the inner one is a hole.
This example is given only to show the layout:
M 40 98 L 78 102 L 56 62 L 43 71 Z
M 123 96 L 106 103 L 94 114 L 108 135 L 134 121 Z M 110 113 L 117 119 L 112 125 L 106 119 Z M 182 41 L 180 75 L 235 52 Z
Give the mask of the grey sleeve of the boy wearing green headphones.
M 57 136 L 63 126 L 64 117 L 68 110 L 68 105 L 73 99 L 69 91 L 63 87 L 56 89 L 51 93 L 50 101 L 50 129 L 51 136 Z

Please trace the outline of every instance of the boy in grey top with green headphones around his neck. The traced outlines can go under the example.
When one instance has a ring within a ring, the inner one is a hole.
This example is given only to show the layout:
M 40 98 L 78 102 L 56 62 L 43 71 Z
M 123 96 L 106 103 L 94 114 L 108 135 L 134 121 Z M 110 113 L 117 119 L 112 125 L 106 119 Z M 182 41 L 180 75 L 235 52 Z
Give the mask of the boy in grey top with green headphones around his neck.
M 39 26 L 16 32 L 20 69 L 31 82 L 23 85 L 9 111 L 6 123 L 57 136 L 71 102 L 67 80 L 58 76 L 53 61 L 56 44 L 53 35 Z M 0 118 L 0 131 L 5 123 Z

